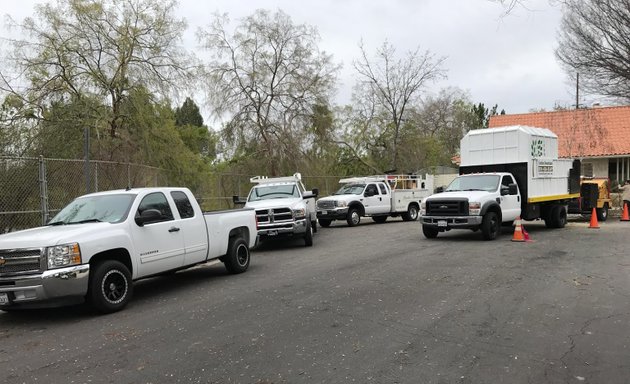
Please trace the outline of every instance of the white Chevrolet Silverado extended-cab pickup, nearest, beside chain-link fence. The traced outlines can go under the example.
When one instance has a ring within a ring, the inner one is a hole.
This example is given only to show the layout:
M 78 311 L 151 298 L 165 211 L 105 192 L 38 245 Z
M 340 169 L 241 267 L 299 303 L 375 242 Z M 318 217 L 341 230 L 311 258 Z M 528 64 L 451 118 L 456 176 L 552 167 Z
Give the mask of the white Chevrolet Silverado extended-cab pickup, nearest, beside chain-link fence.
M 78 197 L 44 227 L 0 235 L 0 309 L 88 301 L 125 307 L 133 281 L 219 259 L 247 270 L 254 211 L 203 213 L 186 188 Z

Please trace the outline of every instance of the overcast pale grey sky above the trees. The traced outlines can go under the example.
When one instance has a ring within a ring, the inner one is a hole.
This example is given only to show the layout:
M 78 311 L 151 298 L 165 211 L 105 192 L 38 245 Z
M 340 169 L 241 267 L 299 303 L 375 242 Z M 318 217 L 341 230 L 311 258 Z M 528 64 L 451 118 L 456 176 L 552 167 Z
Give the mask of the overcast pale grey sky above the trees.
M 2 12 L 17 20 L 32 16 L 42 1 L 3 1 Z M 256 8 L 282 9 L 296 24 L 317 27 L 320 48 L 342 64 L 337 103 L 348 103 L 355 81 L 352 61 L 363 39 L 369 52 L 385 40 L 401 55 L 420 47 L 446 57 L 448 78 L 426 92 L 458 87 L 475 103 L 499 105 L 507 113 L 551 110 L 575 103 L 575 86 L 554 57 L 561 9 L 549 0 L 526 0 L 509 15 L 488 0 L 180 0 L 189 29 L 185 45 L 195 49 L 195 31 L 213 12 L 232 23 Z M 592 101 L 582 99 L 581 102 Z

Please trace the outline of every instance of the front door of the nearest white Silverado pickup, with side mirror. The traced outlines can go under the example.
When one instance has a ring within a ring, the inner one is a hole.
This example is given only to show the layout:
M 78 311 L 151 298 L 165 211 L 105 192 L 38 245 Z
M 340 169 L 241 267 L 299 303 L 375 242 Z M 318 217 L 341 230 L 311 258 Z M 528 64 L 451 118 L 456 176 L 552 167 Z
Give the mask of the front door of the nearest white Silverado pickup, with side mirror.
M 184 236 L 181 223 L 173 217 L 171 206 L 162 192 L 153 192 L 142 198 L 136 215 L 147 209 L 162 214 L 159 221 L 142 227 L 131 222 L 131 235 L 136 251 L 138 277 L 175 269 L 184 265 Z

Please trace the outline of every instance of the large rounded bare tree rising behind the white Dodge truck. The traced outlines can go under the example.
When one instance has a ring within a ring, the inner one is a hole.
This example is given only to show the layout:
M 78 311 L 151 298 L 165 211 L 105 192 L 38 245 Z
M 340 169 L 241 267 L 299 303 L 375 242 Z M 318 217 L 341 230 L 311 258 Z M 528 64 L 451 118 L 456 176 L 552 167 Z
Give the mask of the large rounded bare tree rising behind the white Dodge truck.
M 198 32 L 213 54 L 209 101 L 217 115 L 229 116 L 224 136 L 232 147 L 264 158 L 276 175 L 311 142 L 306 126 L 315 106 L 328 104 L 338 67 L 320 52 L 317 30 L 293 24 L 282 11 L 257 10 L 232 34 L 228 21 L 217 15 Z

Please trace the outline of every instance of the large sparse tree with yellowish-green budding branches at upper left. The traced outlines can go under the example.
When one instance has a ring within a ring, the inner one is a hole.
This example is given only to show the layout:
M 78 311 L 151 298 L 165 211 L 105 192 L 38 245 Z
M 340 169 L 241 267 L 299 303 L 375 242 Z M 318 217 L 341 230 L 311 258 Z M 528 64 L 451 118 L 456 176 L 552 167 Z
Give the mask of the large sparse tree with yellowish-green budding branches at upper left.
M 35 18 L 12 24 L 9 68 L 0 90 L 19 99 L 29 117 L 59 100 L 96 98 L 108 104 L 109 135 L 123 125 L 122 105 L 131 89 L 169 94 L 190 74 L 180 48 L 186 23 L 174 17 L 175 0 L 57 0 L 35 6 Z M 170 89 L 169 89 L 170 87 Z

